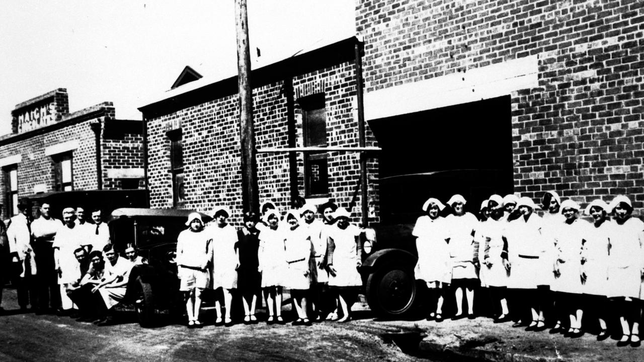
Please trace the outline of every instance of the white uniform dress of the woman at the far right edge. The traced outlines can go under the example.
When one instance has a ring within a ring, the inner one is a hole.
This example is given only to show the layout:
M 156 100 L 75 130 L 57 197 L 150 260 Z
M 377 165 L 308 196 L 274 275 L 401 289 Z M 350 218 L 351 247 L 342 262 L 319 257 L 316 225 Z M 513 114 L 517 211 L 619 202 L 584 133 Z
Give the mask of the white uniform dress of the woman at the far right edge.
M 614 223 L 609 252 L 607 296 L 642 298 L 641 267 L 644 223 L 629 218 L 623 225 Z

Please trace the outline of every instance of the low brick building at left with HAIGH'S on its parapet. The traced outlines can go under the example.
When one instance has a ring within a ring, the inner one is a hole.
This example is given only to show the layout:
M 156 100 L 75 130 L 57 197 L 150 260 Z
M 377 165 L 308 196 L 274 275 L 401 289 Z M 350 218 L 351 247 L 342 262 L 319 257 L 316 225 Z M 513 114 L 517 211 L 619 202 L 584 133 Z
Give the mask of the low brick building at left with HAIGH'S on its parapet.
M 0 138 L 5 218 L 23 196 L 144 188 L 142 122 L 117 120 L 111 102 L 69 113 L 59 88 L 18 104 L 12 131 Z

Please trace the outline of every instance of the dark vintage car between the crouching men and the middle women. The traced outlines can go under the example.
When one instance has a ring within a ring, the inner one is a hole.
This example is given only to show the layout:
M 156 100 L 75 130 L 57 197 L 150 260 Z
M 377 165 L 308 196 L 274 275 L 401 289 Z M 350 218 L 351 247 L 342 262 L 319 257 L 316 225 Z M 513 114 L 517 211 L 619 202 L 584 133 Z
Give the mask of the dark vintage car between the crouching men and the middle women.
M 117 250 L 128 243 L 144 258 L 130 272 L 124 302 L 131 303 L 142 327 L 158 322 L 159 312 L 180 310 L 182 296 L 176 276 L 176 237 L 193 210 L 120 208 L 109 215 L 109 233 Z M 212 218 L 201 214 L 204 222 Z

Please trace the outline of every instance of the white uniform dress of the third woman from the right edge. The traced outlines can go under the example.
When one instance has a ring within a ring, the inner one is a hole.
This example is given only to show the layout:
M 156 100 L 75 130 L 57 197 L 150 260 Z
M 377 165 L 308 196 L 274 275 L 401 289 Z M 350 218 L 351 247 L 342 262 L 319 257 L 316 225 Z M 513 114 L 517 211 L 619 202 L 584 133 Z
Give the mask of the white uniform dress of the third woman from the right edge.
M 551 289 L 556 292 L 582 293 L 582 247 L 588 233 L 588 222 L 575 219 L 571 224 L 562 222 L 554 230 L 555 265 L 559 275 L 554 275 Z

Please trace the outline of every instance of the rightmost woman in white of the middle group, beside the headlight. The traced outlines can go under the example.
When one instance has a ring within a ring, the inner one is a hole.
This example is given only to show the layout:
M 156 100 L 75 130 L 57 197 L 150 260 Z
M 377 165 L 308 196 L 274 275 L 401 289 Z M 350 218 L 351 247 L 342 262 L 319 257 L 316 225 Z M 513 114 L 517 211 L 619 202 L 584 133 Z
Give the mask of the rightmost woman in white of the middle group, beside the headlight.
M 339 322 L 350 320 L 356 291 L 362 285 L 357 270 L 362 265 L 360 229 L 349 223 L 349 216 L 349 212 L 342 207 L 336 210 L 336 224 L 328 231 L 327 241 L 328 286 L 337 291 L 337 299 L 343 312 L 342 318 L 337 320 Z

